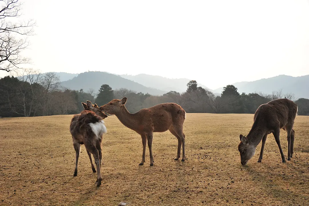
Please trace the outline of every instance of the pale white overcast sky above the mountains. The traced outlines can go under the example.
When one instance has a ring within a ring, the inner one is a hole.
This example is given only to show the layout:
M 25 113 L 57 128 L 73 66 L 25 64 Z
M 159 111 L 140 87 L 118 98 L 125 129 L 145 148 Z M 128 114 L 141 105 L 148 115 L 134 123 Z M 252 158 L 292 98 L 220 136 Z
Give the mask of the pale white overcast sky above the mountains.
M 216 89 L 309 74 L 309 1 L 24 1 L 42 72 L 186 77 Z M 0 76 L 7 73 L 1 71 Z

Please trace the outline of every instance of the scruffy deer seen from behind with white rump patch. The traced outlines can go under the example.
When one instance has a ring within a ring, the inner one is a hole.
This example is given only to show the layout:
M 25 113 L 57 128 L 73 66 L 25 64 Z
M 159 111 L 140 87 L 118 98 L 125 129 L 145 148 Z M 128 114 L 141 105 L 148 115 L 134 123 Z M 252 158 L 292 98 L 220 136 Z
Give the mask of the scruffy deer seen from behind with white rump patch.
M 87 104 L 82 102 L 82 104 L 84 110 L 80 114 L 74 115 L 70 125 L 73 146 L 76 152 L 74 176 L 77 176 L 80 145 L 84 144 L 94 173 L 96 171 L 92 162 L 91 154 L 95 158 L 98 174 L 97 186 L 100 186 L 102 180 L 100 171 L 102 160 L 101 142 L 102 135 L 107 132 L 103 119 L 105 119 L 107 115 L 99 109 L 98 105 L 92 104 L 90 101 L 87 101 Z

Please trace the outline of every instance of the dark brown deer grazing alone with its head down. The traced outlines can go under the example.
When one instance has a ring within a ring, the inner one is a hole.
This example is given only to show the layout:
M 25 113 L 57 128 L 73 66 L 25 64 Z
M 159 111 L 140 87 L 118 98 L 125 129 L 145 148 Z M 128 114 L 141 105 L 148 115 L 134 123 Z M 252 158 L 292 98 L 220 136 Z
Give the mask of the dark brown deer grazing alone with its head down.
M 247 164 L 256 151 L 257 145 L 262 140 L 260 157 L 257 162 L 262 162 L 263 150 L 267 135 L 273 133 L 278 144 L 282 162 L 286 162 L 280 145 L 280 129 L 284 129 L 288 140 L 288 160 L 294 153 L 294 119 L 297 115 L 297 105 L 289 99 L 275 99 L 269 103 L 260 105 L 254 114 L 254 123 L 247 137 L 242 134 L 239 136 L 240 143 L 238 150 L 240 152 L 241 164 Z

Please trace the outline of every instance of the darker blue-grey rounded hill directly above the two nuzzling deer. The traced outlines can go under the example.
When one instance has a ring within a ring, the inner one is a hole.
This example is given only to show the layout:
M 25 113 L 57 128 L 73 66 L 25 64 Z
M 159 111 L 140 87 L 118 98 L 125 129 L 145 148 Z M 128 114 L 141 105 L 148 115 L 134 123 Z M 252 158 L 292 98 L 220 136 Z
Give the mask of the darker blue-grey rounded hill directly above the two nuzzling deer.
M 98 91 L 103 84 L 108 84 L 113 90 L 126 88 L 136 92 L 149 93 L 152 95 L 162 95 L 167 93 L 167 91 L 149 88 L 137 82 L 108 72 L 84 72 L 78 74 L 77 77 L 74 77 L 71 80 L 61 82 L 61 85 L 66 88 L 72 90 L 83 89 L 84 91 L 87 91 L 90 88 Z

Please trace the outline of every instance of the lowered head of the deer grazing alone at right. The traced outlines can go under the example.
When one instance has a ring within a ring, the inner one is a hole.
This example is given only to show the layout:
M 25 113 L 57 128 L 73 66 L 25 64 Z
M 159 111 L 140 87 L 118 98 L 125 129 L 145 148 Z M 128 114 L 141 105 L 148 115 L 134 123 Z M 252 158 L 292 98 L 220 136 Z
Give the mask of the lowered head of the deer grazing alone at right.
M 256 147 L 249 144 L 248 139 L 242 134 L 239 135 L 239 138 L 241 141 L 238 145 L 240 161 L 242 165 L 246 165 L 247 162 L 254 156 Z

